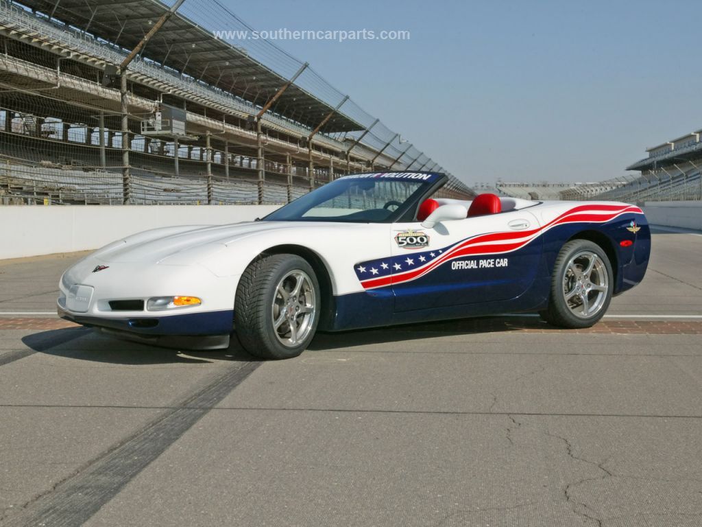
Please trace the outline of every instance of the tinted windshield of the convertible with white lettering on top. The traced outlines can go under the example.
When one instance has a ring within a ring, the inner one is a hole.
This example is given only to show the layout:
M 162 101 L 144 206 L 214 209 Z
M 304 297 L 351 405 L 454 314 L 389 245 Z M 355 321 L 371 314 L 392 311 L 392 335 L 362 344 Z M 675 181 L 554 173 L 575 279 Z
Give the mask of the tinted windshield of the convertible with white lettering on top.
M 393 221 L 443 176 L 428 172 L 355 174 L 332 181 L 265 216 L 265 221 Z

